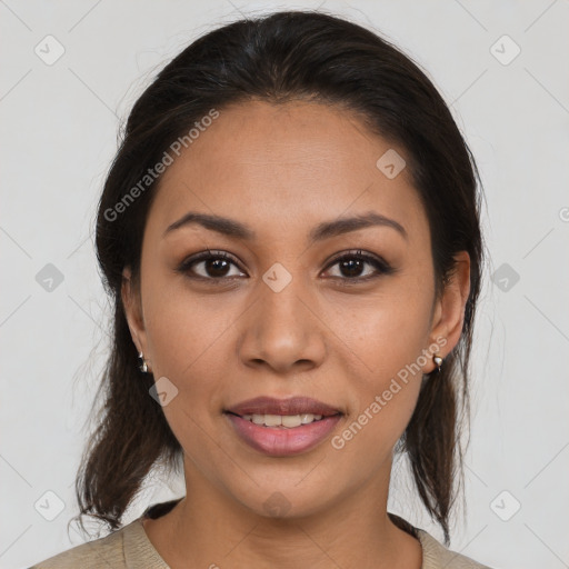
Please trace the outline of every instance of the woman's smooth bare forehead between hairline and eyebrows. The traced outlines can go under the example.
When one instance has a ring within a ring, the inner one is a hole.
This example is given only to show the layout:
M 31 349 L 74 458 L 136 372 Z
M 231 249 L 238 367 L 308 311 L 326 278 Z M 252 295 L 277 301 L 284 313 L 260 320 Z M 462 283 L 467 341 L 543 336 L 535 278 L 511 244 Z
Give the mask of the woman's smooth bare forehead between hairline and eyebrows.
M 198 210 L 253 218 L 269 229 L 375 210 L 406 227 L 425 226 L 407 169 L 393 178 L 378 168 L 386 153 L 398 160 L 406 152 L 338 107 L 234 104 L 221 109 L 168 167 L 149 224 L 166 228 L 187 210 Z

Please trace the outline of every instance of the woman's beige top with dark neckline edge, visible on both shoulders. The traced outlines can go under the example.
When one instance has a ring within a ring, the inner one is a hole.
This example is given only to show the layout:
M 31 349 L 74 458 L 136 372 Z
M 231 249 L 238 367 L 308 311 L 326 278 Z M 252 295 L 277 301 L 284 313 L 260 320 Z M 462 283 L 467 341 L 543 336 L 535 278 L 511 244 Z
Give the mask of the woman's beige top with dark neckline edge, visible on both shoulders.
M 152 517 L 148 515 L 150 509 L 109 536 L 63 551 L 30 569 L 170 569 L 148 539 L 142 526 L 144 517 Z M 427 531 L 413 529 L 422 548 L 421 569 L 490 569 L 449 551 Z

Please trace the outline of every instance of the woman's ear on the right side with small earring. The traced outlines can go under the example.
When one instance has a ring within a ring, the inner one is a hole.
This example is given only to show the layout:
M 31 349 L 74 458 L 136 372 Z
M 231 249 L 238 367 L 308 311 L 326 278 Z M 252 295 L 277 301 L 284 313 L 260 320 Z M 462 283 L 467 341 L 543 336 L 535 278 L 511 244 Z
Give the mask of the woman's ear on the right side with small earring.
M 467 251 L 460 251 L 455 256 L 455 269 L 433 308 L 429 337 L 432 343 L 440 346 L 437 355 L 441 358 L 448 356 L 460 339 L 469 295 L 470 256 Z M 436 367 L 435 362 L 429 359 L 423 372 L 430 373 Z

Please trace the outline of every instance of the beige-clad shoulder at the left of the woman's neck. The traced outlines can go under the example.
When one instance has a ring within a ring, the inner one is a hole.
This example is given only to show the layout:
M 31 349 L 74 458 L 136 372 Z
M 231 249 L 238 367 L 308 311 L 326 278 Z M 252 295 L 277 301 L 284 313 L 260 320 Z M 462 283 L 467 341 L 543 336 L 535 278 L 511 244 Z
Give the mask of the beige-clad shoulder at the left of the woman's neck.
M 140 565 L 142 563 L 142 565 Z M 30 569 L 168 569 L 168 566 L 147 539 L 138 518 L 107 537 L 77 546 Z

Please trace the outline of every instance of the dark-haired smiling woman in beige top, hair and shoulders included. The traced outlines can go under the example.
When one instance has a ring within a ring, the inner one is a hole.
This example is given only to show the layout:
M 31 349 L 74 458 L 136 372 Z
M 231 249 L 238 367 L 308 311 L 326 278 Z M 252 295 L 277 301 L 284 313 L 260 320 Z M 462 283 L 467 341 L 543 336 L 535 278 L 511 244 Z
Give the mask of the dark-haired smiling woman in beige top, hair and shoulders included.
M 480 289 L 477 171 L 375 33 L 278 12 L 184 49 L 129 117 L 97 252 L 114 302 L 78 476 L 108 537 L 50 567 L 483 567 L 449 545 Z M 121 517 L 157 463 L 182 499 Z

